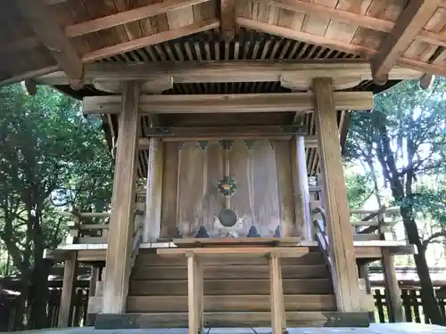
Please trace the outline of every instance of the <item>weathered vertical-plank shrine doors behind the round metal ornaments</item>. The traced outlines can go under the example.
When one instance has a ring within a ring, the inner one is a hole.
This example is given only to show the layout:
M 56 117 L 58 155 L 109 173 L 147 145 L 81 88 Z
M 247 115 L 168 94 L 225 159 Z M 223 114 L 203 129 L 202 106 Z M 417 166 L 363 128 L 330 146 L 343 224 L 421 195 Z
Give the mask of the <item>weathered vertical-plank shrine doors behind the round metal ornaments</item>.
M 221 143 L 165 145 L 161 237 L 297 235 L 289 142 L 232 143 L 229 172 L 237 185 L 230 198 L 230 208 L 237 216 L 232 227 L 223 226 L 218 218 L 225 208 L 225 198 L 218 189 L 225 175 Z

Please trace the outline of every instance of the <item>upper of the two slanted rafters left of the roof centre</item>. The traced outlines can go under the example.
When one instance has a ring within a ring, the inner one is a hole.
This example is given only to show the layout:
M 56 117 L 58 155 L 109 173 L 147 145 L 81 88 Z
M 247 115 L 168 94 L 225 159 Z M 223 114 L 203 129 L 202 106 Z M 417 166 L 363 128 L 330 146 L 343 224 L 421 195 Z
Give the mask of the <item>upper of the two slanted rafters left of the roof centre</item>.
M 201 4 L 206 1 L 208 0 L 166 0 L 161 3 L 148 4 L 126 12 L 118 12 L 99 19 L 72 24 L 65 27 L 65 34 L 68 37 L 86 35 L 98 30 L 116 27 L 136 20 L 143 20 L 165 12 L 174 11 L 194 4 Z

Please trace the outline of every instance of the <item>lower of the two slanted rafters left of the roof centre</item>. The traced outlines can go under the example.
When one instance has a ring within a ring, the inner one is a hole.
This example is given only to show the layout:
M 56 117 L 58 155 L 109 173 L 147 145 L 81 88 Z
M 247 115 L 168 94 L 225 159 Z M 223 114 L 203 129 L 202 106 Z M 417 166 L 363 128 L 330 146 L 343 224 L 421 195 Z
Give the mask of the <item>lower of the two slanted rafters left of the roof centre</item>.
M 86 53 L 82 56 L 82 61 L 97 61 L 116 54 L 128 53 L 129 51 L 136 50 L 145 46 L 159 44 L 171 39 L 192 35 L 209 29 L 216 29 L 219 28 L 219 24 L 219 20 L 211 19 L 190 24 L 178 29 L 166 30 L 158 34 L 137 38 L 128 42 L 120 43 L 118 45 L 104 47 L 103 49 L 99 49 L 91 53 Z

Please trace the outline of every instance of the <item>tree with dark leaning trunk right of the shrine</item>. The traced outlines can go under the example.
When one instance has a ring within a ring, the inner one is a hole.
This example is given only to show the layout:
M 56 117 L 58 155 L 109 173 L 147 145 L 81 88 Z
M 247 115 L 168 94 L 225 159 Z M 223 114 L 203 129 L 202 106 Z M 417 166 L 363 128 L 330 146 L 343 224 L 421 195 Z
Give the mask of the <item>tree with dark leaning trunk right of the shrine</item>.
M 409 243 L 417 247 L 414 260 L 425 313 L 437 324 L 443 323 L 442 314 L 417 229 L 418 211 L 429 209 L 427 193 L 417 191 L 417 180 L 421 175 L 444 173 L 445 83 L 437 79 L 434 86 L 422 90 L 417 82 L 403 82 L 377 95 L 375 110 L 352 115 L 351 140 L 347 141 L 351 159 L 362 159 L 370 168 L 379 166 L 384 186 L 392 193 L 392 204 L 401 207 Z

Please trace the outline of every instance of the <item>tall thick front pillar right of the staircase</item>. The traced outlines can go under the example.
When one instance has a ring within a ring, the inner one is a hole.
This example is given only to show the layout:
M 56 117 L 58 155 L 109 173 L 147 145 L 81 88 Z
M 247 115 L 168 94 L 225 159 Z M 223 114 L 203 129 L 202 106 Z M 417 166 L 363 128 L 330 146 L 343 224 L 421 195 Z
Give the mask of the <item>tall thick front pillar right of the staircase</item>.
M 326 234 L 333 267 L 331 273 L 339 311 L 359 312 L 358 273 L 343 177 L 337 115 L 331 78 L 313 79 L 314 118 L 323 176 Z

